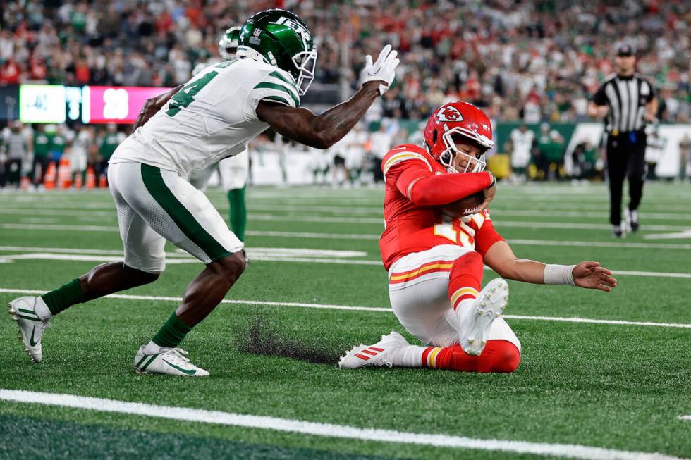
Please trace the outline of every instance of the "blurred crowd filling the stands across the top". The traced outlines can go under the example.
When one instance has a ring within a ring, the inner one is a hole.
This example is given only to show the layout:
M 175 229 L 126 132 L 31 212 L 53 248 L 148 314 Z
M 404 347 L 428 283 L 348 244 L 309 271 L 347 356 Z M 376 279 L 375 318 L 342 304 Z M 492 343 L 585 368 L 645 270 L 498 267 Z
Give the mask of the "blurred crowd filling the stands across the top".
M 276 6 L 312 30 L 314 88 L 354 89 L 365 55 L 385 43 L 400 51 L 382 116 L 424 118 L 460 99 L 499 120 L 583 121 L 626 37 L 659 91 L 661 120 L 691 118 L 685 0 L 19 0 L 1 12 L 0 85 L 178 85 L 217 53 L 227 27 Z

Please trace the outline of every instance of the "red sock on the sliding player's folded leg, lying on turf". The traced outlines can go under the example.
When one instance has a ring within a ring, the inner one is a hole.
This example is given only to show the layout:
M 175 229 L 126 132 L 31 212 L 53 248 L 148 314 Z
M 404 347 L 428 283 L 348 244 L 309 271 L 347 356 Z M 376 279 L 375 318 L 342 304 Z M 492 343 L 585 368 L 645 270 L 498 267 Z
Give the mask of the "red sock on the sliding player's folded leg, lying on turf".
M 508 340 L 488 340 L 479 356 L 466 354 L 460 345 L 427 347 L 422 367 L 463 372 L 513 372 L 520 363 L 518 348 Z

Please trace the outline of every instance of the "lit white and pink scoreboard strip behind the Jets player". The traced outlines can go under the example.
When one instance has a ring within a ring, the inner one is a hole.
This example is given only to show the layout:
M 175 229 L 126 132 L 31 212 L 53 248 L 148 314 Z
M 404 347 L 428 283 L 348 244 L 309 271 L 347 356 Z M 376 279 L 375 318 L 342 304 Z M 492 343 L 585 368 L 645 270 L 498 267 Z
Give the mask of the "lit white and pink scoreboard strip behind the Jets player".
M 2 98 L 0 119 L 19 118 L 23 123 L 81 121 L 85 124 L 134 123 L 147 99 L 170 89 L 63 85 L 19 85 L 13 88 L 18 93 L 18 98 L 13 99 L 18 107 L 13 106 L 12 98 Z

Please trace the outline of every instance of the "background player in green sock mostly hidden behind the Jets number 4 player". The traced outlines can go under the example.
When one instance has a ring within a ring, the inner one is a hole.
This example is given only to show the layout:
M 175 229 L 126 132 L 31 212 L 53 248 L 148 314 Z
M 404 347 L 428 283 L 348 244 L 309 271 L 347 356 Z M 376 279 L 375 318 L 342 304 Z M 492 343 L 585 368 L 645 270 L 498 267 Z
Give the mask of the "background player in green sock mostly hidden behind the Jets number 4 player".
M 224 61 L 235 58 L 238 51 L 238 39 L 240 38 L 240 27 L 230 27 L 226 30 L 219 41 L 219 54 Z M 213 58 L 207 63 L 202 63 L 195 67 L 194 74 L 202 72 L 204 68 L 220 62 L 219 58 Z M 197 189 L 207 189 L 207 184 L 214 171 L 219 172 L 219 182 L 221 189 L 226 192 L 228 197 L 228 222 L 231 230 L 240 241 L 245 241 L 245 228 L 247 227 L 247 206 L 245 204 L 245 187 L 250 170 L 250 155 L 247 149 L 241 151 L 236 156 L 224 158 L 215 165 L 204 169 L 190 171 L 188 180 Z

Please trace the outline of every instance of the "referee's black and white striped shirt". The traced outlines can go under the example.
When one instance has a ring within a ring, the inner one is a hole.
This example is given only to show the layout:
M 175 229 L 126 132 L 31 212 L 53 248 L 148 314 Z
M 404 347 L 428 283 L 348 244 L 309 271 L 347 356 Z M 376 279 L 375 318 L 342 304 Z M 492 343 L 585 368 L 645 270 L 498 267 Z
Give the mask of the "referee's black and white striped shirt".
M 605 130 L 616 136 L 644 128 L 645 105 L 654 97 L 650 82 L 637 73 L 630 77 L 614 73 L 602 82 L 592 101 L 598 106 L 609 106 Z

